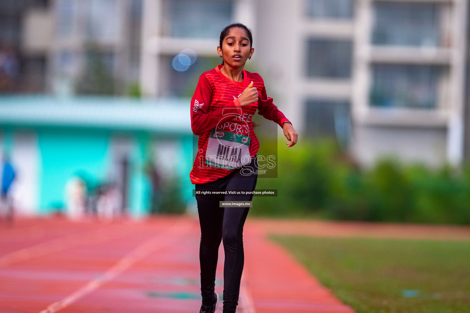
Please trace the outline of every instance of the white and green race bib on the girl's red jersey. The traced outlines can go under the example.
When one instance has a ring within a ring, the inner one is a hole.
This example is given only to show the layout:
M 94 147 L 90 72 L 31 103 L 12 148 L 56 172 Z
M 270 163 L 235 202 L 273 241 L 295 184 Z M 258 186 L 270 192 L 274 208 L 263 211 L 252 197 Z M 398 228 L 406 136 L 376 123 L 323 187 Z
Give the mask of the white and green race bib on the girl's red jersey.
M 250 137 L 248 136 L 223 130 L 211 130 L 205 163 L 218 168 L 239 168 L 251 162 L 249 146 Z

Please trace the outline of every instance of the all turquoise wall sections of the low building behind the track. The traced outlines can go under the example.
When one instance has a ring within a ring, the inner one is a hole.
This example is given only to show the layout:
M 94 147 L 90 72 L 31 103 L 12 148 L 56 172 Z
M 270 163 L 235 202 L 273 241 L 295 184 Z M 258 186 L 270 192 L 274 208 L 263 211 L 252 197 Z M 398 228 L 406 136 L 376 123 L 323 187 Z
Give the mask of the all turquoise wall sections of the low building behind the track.
M 65 186 L 74 176 L 86 178 L 90 187 L 104 183 L 113 170 L 110 130 L 72 128 L 37 128 L 39 147 L 38 166 L 38 214 L 47 215 L 64 211 Z M 11 150 L 15 130 L 1 131 L 1 145 Z M 151 206 L 151 180 L 144 171 L 155 134 L 149 132 L 127 133 L 132 138 L 129 164 L 128 202 L 129 213 L 134 217 L 146 216 Z M 189 180 L 192 167 L 192 137 L 175 137 L 180 143 L 177 175 L 182 184 L 182 198 L 191 200 L 194 186 Z

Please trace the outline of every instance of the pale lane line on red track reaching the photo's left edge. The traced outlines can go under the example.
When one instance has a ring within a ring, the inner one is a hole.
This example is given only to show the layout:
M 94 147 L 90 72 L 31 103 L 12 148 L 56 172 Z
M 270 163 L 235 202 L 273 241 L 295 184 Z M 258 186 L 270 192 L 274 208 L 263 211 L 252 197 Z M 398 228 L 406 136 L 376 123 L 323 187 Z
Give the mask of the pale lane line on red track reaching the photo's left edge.
M 117 227 L 114 227 L 117 228 Z M 120 235 L 115 233 L 115 235 Z M 99 243 L 109 240 L 113 235 L 110 235 L 109 227 L 101 227 L 86 234 L 78 233 L 72 234 L 67 237 L 52 239 L 40 244 L 33 245 L 28 248 L 17 250 L 7 253 L 0 257 L 0 267 L 6 267 L 16 262 L 29 260 L 32 258 L 40 257 L 42 255 L 58 252 L 65 248 L 70 248 L 73 245 L 82 245 L 88 243 Z M 96 240 L 98 238 L 98 240 Z

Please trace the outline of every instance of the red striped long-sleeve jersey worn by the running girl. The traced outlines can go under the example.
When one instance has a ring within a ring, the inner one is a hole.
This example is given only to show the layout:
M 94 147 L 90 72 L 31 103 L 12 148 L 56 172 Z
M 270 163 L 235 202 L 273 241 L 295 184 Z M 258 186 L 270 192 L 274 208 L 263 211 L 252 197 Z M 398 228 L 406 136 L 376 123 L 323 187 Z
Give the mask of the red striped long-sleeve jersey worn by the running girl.
M 191 129 L 199 135 L 198 151 L 189 173 L 192 183 L 208 183 L 248 164 L 259 149 L 251 117 L 258 114 L 282 127 L 289 121 L 267 97 L 263 79 L 243 70 L 243 82 L 220 72 L 223 65 L 199 77 L 191 99 Z M 238 97 L 253 82 L 258 101 L 242 107 Z

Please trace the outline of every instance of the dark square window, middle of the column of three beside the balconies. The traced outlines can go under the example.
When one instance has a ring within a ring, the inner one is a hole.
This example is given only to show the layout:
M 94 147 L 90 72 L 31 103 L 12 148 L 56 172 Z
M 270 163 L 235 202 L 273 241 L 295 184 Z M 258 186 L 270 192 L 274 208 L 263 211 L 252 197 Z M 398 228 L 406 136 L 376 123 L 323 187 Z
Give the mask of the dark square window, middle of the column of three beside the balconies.
M 352 41 L 310 39 L 307 47 L 307 76 L 349 78 Z

